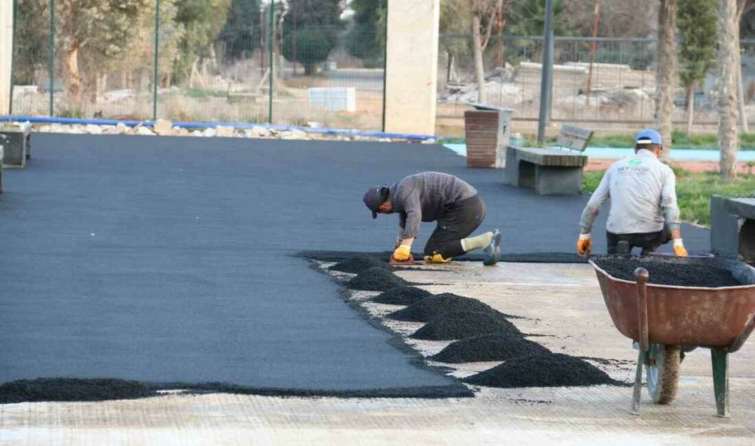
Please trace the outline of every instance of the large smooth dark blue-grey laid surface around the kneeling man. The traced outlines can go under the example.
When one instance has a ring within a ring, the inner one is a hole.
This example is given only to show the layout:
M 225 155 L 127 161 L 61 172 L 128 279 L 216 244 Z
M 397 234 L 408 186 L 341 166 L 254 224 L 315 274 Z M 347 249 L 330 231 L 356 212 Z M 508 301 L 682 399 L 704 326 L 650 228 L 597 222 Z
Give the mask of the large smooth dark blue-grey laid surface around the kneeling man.
M 572 252 L 587 201 L 503 186 L 435 145 L 34 134 L 32 146 L 0 195 L 0 383 L 452 393 L 296 254 L 390 249 L 397 218 L 372 220 L 362 195 L 418 171 L 476 186 L 480 230 L 501 228 L 507 253 Z M 706 230 L 683 231 L 707 250 Z

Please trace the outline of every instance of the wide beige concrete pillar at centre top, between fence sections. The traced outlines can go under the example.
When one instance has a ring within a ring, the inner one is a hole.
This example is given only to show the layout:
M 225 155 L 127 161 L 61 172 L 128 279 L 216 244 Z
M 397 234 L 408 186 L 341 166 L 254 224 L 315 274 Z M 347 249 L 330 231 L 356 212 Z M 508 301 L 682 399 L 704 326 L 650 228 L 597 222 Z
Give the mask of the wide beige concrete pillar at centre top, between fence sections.
M 388 0 L 385 130 L 435 134 L 440 0 Z

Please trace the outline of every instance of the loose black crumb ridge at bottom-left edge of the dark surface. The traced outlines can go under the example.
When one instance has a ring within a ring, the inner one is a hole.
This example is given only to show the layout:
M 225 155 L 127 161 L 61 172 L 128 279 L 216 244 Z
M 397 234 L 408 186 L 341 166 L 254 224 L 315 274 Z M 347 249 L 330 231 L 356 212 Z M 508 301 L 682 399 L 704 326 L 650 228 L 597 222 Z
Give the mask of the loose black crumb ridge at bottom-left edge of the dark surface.
M 0 404 L 26 401 L 104 401 L 157 395 L 136 381 L 112 378 L 38 378 L 0 385 Z

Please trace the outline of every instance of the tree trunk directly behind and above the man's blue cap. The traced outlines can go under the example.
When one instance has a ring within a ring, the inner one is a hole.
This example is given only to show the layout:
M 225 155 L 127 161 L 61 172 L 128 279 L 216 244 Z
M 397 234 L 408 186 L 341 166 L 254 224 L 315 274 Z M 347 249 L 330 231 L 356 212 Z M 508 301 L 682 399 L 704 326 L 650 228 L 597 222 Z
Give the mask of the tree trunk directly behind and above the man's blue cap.
M 676 0 L 661 0 L 658 9 L 658 68 L 655 70 L 655 122 L 663 138 L 661 160 L 669 160 L 671 151 L 671 114 L 673 89 L 676 83 L 676 51 L 673 38 L 676 33 Z

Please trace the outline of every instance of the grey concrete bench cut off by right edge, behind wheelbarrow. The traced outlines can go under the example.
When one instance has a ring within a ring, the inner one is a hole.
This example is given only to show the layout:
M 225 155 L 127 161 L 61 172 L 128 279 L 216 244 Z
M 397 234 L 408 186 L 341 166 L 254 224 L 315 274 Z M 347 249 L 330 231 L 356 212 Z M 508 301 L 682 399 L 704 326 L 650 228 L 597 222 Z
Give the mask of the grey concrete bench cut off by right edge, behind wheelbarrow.
M 710 197 L 710 249 L 755 263 L 755 198 Z

